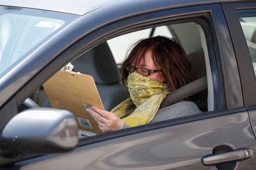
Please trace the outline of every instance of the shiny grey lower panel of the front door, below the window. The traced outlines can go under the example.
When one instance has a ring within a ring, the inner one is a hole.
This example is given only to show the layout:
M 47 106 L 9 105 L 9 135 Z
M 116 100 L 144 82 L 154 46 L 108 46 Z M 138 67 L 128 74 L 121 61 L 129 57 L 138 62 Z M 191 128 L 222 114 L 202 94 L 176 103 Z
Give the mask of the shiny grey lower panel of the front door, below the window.
M 135 135 L 109 139 L 78 147 L 72 153 L 33 160 L 17 165 L 33 169 L 216 169 L 204 166 L 202 158 L 211 155 L 217 145 L 233 149 L 252 149 L 256 141 L 248 112 L 159 128 Z M 254 169 L 256 158 L 238 162 L 238 169 Z

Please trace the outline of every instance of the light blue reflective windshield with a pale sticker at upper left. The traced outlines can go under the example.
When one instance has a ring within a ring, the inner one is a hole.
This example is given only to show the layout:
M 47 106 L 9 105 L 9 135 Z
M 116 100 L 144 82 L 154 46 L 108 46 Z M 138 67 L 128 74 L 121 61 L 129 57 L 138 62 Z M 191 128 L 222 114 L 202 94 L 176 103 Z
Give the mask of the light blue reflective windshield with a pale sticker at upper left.
M 78 16 L 0 6 L 0 78 Z

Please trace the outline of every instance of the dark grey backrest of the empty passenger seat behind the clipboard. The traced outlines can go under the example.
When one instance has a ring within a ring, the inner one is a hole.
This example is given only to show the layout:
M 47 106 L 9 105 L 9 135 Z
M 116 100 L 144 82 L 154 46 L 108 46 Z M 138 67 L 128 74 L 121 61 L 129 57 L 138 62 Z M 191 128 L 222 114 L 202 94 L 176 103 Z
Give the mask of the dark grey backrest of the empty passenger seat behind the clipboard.
M 112 52 L 104 42 L 71 62 L 74 71 L 93 76 L 96 84 L 115 84 L 120 74 Z

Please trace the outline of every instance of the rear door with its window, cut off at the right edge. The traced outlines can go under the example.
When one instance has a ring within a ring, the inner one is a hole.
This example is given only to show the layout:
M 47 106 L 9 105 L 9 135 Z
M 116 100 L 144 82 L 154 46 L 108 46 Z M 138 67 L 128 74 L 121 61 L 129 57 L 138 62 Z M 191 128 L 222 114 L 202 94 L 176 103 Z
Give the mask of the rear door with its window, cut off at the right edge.
M 244 105 L 256 130 L 256 2 L 223 4 L 241 77 Z

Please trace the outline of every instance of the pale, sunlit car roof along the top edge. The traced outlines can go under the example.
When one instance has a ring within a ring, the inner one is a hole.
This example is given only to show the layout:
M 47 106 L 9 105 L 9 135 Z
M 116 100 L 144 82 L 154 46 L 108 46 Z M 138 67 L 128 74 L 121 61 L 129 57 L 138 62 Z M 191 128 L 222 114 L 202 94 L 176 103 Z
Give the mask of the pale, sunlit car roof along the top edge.
M 145 5 L 149 3 L 158 3 L 159 0 L 0 0 L 1 6 L 33 8 L 48 11 L 58 11 L 71 13 L 75 15 L 84 15 L 90 11 L 102 8 L 108 5 L 115 5 L 115 2 L 121 1 L 123 4 Z M 218 2 L 232 2 L 241 0 L 162 0 L 170 4 L 169 7 L 181 7 L 188 5 L 211 4 Z

